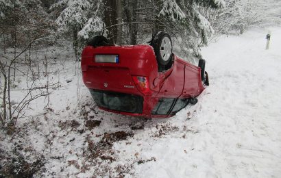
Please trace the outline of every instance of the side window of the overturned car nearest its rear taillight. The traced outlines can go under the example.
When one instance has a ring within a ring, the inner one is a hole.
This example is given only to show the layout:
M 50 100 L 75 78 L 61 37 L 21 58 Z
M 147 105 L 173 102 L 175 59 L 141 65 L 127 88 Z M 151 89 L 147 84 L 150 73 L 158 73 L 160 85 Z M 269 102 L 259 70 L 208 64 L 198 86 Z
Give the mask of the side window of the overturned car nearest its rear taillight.
M 151 114 L 154 115 L 167 115 L 169 114 L 169 111 L 171 107 L 173 106 L 173 102 L 175 99 L 159 99 L 157 105 L 154 107 L 154 110 L 152 110 Z

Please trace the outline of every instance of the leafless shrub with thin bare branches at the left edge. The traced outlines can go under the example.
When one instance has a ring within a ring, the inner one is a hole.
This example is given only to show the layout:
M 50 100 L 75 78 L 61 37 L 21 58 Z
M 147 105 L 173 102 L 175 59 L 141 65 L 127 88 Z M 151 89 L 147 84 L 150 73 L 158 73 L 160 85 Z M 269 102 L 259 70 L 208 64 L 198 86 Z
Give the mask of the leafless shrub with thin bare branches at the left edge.
M 32 40 L 25 49 L 23 49 L 19 54 L 16 54 L 14 58 L 10 59 L 5 55 L 0 55 L 0 73 L 3 75 L 3 89 L 1 87 L 1 103 L 3 105 L 0 108 L 0 121 L 3 127 L 7 127 L 8 130 L 14 130 L 18 118 L 25 116 L 25 108 L 32 101 L 40 98 L 47 97 L 49 95 L 49 89 L 56 87 L 56 84 L 36 84 L 36 79 L 34 77 L 29 77 L 28 74 L 22 73 L 22 77 L 27 77 L 31 79 L 32 82 L 27 84 L 27 88 L 12 89 L 12 79 L 11 70 L 19 71 L 18 68 L 14 68 L 16 64 L 21 64 L 19 62 L 19 57 L 29 49 L 32 43 L 36 42 L 38 39 Z M 13 91 L 23 91 L 23 97 L 19 99 L 16 103 L 12 102 L 12 92 Z

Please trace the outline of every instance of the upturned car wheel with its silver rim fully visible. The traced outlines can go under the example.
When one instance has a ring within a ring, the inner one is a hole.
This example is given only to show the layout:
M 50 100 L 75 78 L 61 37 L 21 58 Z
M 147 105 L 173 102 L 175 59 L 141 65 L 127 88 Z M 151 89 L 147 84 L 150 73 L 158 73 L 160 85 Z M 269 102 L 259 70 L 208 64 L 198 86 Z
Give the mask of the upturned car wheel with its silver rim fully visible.
M 173 57 L 171 36 L 164 31 L 160 31 L 152 37 L 150 45 L 154 48 L 158 66 L 164 67 L 169 64 Z

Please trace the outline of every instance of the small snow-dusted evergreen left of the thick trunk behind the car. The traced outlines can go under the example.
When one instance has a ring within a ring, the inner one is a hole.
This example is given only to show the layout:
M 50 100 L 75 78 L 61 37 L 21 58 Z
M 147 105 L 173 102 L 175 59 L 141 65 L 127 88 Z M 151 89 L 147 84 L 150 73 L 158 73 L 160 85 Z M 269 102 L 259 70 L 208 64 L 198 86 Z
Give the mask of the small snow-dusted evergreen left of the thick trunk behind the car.
M 102 30 L 103 23 L 97 16 L 100 3 L 95 0 L 61 0 L 51 5 L 53 11 L 63 9 L 56 19 L 58 32 L 72 39 L 76 60 L 79 59 L 84 39 Z

